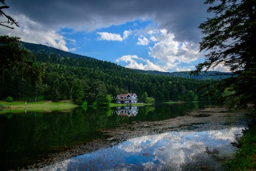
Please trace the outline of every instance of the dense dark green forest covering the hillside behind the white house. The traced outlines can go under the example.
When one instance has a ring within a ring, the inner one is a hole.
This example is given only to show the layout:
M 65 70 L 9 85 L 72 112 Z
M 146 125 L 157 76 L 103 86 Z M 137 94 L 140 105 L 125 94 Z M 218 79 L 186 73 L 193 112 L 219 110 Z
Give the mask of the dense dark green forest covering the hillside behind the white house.
M 31 83 L 18 71 L 4 70 L 1 74 L 0 98 L 16 100 L 65 100 L 76 103 L 86 100 L 104 103 L 106 97 L 132 92 L 139 101 L 145 95 L 156 101 L 204 100 L 210 81 L 140 73 L 116 63 L 64 52 L 43 45 L 21 42 L 36 58 L 42 69 L 39 81 Z M 208 98 L 208 97 L 207 97 Z

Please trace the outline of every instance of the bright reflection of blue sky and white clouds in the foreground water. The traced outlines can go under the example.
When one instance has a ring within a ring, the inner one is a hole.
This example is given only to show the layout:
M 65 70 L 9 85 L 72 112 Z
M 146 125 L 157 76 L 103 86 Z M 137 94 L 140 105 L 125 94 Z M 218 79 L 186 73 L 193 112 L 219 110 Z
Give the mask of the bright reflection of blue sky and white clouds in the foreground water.
M 48 170 L 222 170 L 242 127 L 204 132 L 169 132 L 129 139 L 50 165 Z

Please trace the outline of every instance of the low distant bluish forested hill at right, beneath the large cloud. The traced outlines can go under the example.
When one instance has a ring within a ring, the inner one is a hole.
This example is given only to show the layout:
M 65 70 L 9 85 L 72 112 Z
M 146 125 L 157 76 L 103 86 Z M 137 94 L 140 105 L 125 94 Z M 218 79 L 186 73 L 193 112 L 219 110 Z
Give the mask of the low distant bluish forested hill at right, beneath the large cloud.
M 145 74 L 154 74 L 154 75 L 165 75 L 170 77 L 184 77 L 184 78 L 193 78 L 198 80 L 221 80 L 228 78 L 232 75 L 232 73 L 228 72 L 218 72 L 218 71 L 207 71 L 200 72 L 199 75 L 190 75 L 189 71 L 181 71 L 181 72 L 160 72 L 160 71 L 144 71 L 144 70 L 136 70 Z

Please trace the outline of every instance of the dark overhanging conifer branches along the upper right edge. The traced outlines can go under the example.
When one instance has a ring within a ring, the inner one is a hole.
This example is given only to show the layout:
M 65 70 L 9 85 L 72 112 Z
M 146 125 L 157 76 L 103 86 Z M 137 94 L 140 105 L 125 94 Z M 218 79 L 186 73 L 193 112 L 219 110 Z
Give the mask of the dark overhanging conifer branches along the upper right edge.
M 216 2 L 205 2 L 215 5 L 207 10 L 214 16 L 199 26 L 205 35 L 200 50 L 207 54 L 192 73 L 198 74 L 203 68 L 208 70 L 219 64 L 229 67 L 236 76 L 220 81 L 215 87 L 221 92 L 229 88 L 234 93 L 219 101 L 229 108 L 243 108 L 248 102 L 256 107 L 256 3 L 254 0 Z

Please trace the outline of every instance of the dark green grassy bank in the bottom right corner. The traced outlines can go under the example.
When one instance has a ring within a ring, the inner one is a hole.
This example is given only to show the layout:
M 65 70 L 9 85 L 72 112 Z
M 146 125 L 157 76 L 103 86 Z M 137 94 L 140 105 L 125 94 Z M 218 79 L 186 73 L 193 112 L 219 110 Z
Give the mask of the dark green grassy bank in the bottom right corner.
M 227 170 L 256 170 L 256 125 L 250 126 L 239 140 L 239 150 L 234 159 L 225 163 Z

